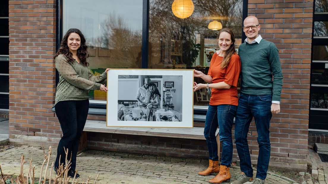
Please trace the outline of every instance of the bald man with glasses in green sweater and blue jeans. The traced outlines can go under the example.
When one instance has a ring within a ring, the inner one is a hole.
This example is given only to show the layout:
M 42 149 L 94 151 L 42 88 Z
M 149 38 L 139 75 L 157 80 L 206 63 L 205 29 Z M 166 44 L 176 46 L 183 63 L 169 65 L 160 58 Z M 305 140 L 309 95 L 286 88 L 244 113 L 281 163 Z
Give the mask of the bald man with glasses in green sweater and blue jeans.
M 231 184 L 265 183 L 271 149 L 270 120 L 272 113 L 280 112 L 282 73 L 278 49 L 274 43 L 262 39 L 258 34 L 259 30 L 260 25 L 256 17 L 249 16 L 244 20 L 243 31 L 247 38 L 238 49 L 241 60 L 241 92 L 235 126 L 236 148 L 242 173 Z M 253 117 L 259 146 L 254 180 L 247 143 L 247 134 Z

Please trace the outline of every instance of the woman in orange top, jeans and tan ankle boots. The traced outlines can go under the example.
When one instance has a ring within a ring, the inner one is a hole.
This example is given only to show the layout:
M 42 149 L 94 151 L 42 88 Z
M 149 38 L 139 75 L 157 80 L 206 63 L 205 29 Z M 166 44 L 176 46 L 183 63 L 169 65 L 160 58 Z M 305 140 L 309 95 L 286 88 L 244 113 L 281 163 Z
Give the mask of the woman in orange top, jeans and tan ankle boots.
M 219 31 L 218 45 L 220 54 L 213 54 L 208 75 L 194 70 L 194 77 L 200 77 L 207 82 L 207 84 L 195 82 L 194 91 L 201 88 L 212 89 L 204 128 L 209 152 L 209 167 L 198 173 L 199 175 L 210 175 L 219 172 L 215 178 L 209 180 L 210 183 L 230 182 L 229 168 L 233 151 L 231 129 L 238 105 L 237 82 L 241 68 L 240 58 L 235 51 L 235 34 L 231 29 L 224 28 Z M 220 166 L 215 137 L 218 126 L 222 142 Z

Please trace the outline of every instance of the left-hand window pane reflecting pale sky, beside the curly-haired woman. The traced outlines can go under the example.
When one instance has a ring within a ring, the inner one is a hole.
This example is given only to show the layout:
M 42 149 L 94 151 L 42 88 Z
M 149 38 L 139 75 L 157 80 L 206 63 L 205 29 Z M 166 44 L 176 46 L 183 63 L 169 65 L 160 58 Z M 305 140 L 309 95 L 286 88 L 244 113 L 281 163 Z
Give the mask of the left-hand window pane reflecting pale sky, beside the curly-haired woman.
M 93 74 L 106 68 L 140 68 L 142 0 L 64 0 L 63 35 L 78 28 L 89 47 Z M 106 93 L 90 91 L 90 100 L 106 100 Z

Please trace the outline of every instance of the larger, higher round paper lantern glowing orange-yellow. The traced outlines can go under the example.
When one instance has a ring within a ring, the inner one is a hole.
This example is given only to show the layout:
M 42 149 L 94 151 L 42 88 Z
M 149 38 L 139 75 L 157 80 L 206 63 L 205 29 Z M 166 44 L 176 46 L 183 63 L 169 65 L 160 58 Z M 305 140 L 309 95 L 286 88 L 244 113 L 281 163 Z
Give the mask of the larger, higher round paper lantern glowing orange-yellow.
M 194 12 L 194 3 L 192 0 L 174 0 L 172 3 L 173 14 L 181 19 L 189 17 Z

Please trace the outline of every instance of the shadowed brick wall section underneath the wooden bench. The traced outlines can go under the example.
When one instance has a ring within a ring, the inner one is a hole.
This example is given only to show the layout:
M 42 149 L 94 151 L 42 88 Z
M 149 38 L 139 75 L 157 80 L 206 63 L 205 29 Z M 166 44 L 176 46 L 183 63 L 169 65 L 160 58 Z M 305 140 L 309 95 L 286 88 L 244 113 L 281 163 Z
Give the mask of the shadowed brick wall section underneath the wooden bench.
M 206 140 L 88 132 L 88 149 L 208 160 Z

